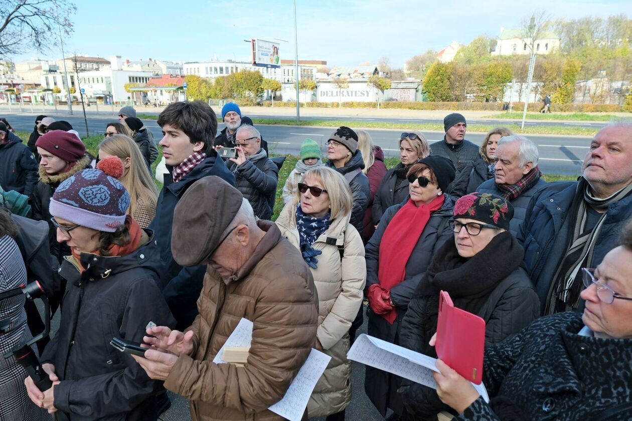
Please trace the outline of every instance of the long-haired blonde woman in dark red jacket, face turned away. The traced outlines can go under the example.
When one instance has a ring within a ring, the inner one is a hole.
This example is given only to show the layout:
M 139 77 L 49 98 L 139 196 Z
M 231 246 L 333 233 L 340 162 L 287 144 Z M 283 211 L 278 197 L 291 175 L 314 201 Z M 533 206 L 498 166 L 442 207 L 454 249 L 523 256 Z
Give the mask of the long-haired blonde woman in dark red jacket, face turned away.
M 364 212 L 362 220 L 362 240 L 367 243 L 371 239 L 371 235 L 375 231 L 373 223 L 372 209 L 375 193 L 382 184 L 384 174 L 386 174 L 386 165 L 384 165 L 384 152 L 379 146 L 373 145 L 371 135 L 364 130 L 356 130 L 358 134 L 358 149 L 362 152 L 364 159 L 364 169 L 362 172 L 368 177 L 368 186 L 371 189 L 371 195 L 368 198 L 367 210 Z

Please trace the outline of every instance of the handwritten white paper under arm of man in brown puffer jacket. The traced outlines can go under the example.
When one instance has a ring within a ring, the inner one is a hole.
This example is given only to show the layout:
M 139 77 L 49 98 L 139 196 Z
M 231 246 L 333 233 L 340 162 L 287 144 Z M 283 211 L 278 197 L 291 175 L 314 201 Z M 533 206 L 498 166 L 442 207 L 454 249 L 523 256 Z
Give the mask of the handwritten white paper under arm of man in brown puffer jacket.
M 224 347 L 250 347 L 252 326 L 252 321 L 242 318 L 233 333 L 217 352 L 213 362 L 215 364 L 226 363 L 226 361 L 221 359 L 221 356 L 224 355 Z M 303 418 L 303 413 L 305 408 L 307 408 L 307 402 L 310 400 L 316 382 L 322 376 L 325 368 L 327 368 L 329 360 L 331 360 L 329 355 L 312 349 L 298 374 L 289 384 L 283 399 L 270 406 L 269 410 L 290 421 L 300 421 Z

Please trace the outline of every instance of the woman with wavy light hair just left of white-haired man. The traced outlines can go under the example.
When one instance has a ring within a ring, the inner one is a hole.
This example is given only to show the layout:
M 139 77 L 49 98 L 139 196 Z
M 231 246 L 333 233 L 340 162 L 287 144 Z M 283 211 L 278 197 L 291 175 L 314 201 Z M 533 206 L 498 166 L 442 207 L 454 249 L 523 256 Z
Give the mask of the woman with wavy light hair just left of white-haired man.
M 513 136 L 513 132 L 505 127 L 496 127 L 485 135 L 478 157 L 465 164 L 454 180 L 450 194 L 460 198 L 474 193 L 484 181 L 494 178 L 494 155 L 498 141 L 504 136 Z

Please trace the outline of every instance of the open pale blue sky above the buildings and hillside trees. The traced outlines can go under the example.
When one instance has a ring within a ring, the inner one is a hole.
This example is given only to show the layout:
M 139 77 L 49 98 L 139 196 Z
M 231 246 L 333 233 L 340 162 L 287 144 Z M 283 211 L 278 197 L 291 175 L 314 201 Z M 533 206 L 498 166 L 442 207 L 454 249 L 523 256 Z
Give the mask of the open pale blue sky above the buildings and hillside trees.
M 75 0 L 74 33 L 64 52 L 121 56 L 131 61 L 249 61 L 251 38 L 281 39 L 282 59 L 295 57 L 291 0 Z M 495 37 L 500 28 L 518 28 L 533 12 L 552 19 L 632 16 L 629 0 L 296 0 L 298 59 L 323 60 L 329 67 L 377 64 L 389 57 L 401 68 L 427 49 L 441 50 L 453 41 L 468 44 L 479 35 Z M 25 52 L 29 57 L 58 59 L 56 50 Z

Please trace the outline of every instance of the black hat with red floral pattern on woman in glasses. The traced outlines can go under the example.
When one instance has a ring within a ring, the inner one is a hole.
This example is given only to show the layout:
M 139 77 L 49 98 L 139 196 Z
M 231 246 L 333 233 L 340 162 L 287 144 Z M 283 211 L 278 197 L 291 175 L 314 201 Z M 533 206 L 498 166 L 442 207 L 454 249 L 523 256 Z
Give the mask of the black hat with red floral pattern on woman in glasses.
M 456 201 L 454 218 L 470 218 L 509 229 L 513 206 L 501 196 L 490 193 L 470 193 Z

